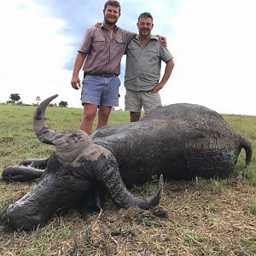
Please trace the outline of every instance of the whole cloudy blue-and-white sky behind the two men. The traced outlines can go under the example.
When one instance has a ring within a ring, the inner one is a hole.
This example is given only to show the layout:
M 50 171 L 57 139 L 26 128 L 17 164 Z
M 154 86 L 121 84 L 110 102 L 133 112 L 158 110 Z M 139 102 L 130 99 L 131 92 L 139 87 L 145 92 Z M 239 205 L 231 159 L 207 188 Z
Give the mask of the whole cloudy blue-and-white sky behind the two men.
M 137 16 L 154 17 L 152 33 L 167 38 L 172 76 L 163 105 L 188 102 L 218 113 L 256 115 L 256 2 L 254 0 L 120 0 L 117 23 L 137 32 Z M 82 108 L 70 84 L 84 32 L 103 19 L 102 0 L 13 0 L 0 9 L 0 102 L 19 93 L 23 103 L 58 94 L 56 103 Z M 165 63 L 162 63 L 164 71 Z M 124 109 L 125 57 L 119 108 Z M 82 79 L 82 72 L 80 73 Z

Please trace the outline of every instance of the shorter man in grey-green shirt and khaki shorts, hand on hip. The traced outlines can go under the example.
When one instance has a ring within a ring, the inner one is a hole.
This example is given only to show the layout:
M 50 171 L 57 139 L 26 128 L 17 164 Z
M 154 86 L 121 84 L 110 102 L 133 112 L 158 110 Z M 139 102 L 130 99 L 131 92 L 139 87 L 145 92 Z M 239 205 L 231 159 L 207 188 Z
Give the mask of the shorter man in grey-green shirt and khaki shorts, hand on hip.
M 161 106 L 159 90 L 171 76 L 174 62 L 171 52 L 159 38 L 151 35 L 153 17 L 149 13 L 139 15 L 139 35 L 131 40 L 126 49 L 125 110 L 130 111 L 131 122 Z M 166 62 L 165 73 L 160 80 L 161 61 Z

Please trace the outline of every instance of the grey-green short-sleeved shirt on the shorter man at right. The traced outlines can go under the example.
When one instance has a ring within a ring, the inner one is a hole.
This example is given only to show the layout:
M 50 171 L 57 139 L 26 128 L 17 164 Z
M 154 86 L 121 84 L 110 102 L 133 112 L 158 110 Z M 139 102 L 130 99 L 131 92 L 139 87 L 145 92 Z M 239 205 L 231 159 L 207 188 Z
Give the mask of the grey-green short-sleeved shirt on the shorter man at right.
M 142 45 L 137 35 L 126 49 L 125 88 L 152 90 L 160 80 L 161 61 L 170 60 L 171 52 L 157 37 L 152 35 L 148 44 Z

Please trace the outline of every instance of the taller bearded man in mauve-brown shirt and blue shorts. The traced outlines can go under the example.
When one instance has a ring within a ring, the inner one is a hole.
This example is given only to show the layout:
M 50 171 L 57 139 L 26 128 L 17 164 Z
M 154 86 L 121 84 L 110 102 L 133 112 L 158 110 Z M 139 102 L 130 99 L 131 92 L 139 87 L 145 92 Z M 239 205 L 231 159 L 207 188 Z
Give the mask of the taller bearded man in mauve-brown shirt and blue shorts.
M 119 104 L 120 61 L 127 44 L 135 33 L 116 26 L 120 16 L 118 1 L 107 1 L 103 9 L 104 22 L 85 32 L 73 67 L 71 84 L 80 87 L 79 71 L 83 67 L 84 80 L 81 100 L 84 115 L 80 129 L 89 135 L 98 108 L 96 129 L 108 125 L 111 109 Z

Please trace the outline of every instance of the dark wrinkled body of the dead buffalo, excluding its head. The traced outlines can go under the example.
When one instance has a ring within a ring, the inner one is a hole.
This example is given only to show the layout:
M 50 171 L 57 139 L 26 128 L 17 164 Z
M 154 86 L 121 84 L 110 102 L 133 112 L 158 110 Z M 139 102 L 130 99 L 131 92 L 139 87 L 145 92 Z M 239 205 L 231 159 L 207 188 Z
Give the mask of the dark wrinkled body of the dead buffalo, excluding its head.
M 173 104 L 148 113 L 140 122 L 102 127 L 92 135 L 119 163 L 126 184 L 152 175 L 169 179 L 227 177 L 241 148 L 246 166 L 251 143 L 218 113 L 193 104 Z

